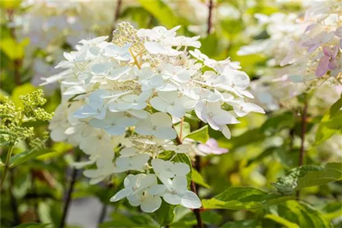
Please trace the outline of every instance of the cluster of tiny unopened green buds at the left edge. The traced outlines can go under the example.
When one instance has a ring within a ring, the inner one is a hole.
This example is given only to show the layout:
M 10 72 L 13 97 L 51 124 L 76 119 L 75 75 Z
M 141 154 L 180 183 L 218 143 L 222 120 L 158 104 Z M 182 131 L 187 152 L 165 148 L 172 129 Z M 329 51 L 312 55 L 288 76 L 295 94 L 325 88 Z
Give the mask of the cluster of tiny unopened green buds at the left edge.
M 19 140 L 34 137 L 34 128 L 29 122 L 49 121 L 53 113 L 47 113 L 41 108 L 47 102 L 44 99 L 42 89 L 30 94 L 20 96 L 23 107 L 16 107 L 9 98 L 4 98 L 0 103 L 0 145 L 16 145 Z M 43 145 L 47 137 L 30 140 L 32 145 Z

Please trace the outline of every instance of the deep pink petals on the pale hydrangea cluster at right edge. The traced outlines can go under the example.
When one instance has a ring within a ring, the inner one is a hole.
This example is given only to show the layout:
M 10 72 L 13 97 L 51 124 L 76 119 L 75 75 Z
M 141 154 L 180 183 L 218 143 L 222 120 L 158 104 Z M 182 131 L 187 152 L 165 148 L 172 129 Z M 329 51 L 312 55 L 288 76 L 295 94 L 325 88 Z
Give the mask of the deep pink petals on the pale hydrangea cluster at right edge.
M 328 46 L 324 46 L 324 57 L 321 57 L 319 60 L 318 67 L 315 72 L 316 76 L 323 76 L 328 70 L 334 70 L 337 68 L 336 57 L 338 51 L 338 46 L 334 46 L 334 50 Z

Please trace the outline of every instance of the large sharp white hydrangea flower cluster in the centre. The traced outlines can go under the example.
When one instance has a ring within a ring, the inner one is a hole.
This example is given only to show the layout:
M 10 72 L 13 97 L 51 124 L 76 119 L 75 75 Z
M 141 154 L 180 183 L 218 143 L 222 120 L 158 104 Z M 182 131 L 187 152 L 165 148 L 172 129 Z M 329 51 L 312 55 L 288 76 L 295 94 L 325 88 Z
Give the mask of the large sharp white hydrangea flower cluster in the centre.
M 45 79 L 60 81 L 62 88 L 51 138 L 79 145 L 89 161 L 78 167 L 96 163 L 96 169 L 84 171 L 92 184 L 114 173 L 140 172 L 129 174 L 111 201 L 126 197 L 144 212 L 157 210 L 161 197 L 172 205 L 200 208 L 200 199 L 187 190 L 189 165 L 172 161 L 174 156 L 160 157 L 191 150 L 192 145 L 174 140 L 177 119 L 196 115 L 229 139 L 227 125 L 238 124 L 237 117 L 263 113 L 245 100 L 253 96 L 239 63 L 209 59 L 197 49 L 198 36 L 176 36 L 177 29 L 136 30 L 120 23 L 111 42 L 107 36 L 81 40 L 56 66 L 66 70 Z

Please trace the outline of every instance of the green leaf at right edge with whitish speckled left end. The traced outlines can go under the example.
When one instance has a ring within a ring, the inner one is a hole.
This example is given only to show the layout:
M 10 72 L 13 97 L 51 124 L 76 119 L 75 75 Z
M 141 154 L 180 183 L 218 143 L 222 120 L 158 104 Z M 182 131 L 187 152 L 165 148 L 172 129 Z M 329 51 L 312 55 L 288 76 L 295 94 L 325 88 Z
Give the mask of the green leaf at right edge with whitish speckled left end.
M 328 163 L 325 167 L 315 165 L 296 167 L 285 173 L 284 177 L 279 177 L 273 185 L 280 193 L 291 194 L 294 190 L 339 180 L 342 180 L 342 163 Z

